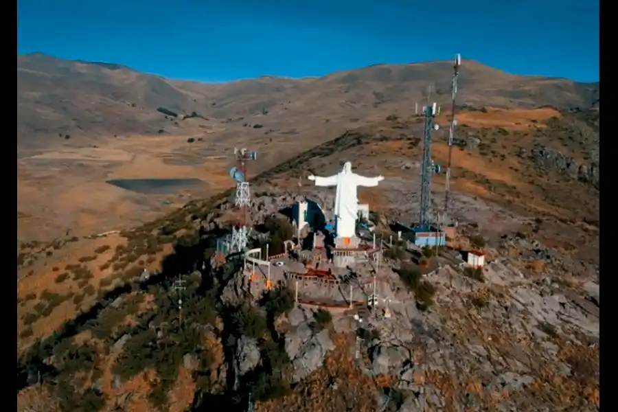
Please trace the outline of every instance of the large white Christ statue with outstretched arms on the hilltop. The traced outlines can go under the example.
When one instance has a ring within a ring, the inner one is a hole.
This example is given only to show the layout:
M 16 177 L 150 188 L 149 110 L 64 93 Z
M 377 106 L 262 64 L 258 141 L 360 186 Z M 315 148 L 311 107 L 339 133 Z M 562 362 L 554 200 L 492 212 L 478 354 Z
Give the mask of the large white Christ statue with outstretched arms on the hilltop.
M 355 234 L 356 219 L 358 218 L 358 197 L 356 187 L 375 187 L 384 180 L 384 176 L 365 177 L 352 172 L 352 163 L 343 165 L 343 170 L 328 177 L 310 175 L 309 180 L 315 181 L 316 186 L 336 186 L 335 196 L 335 231 L 337 238 L 352 238 Z

